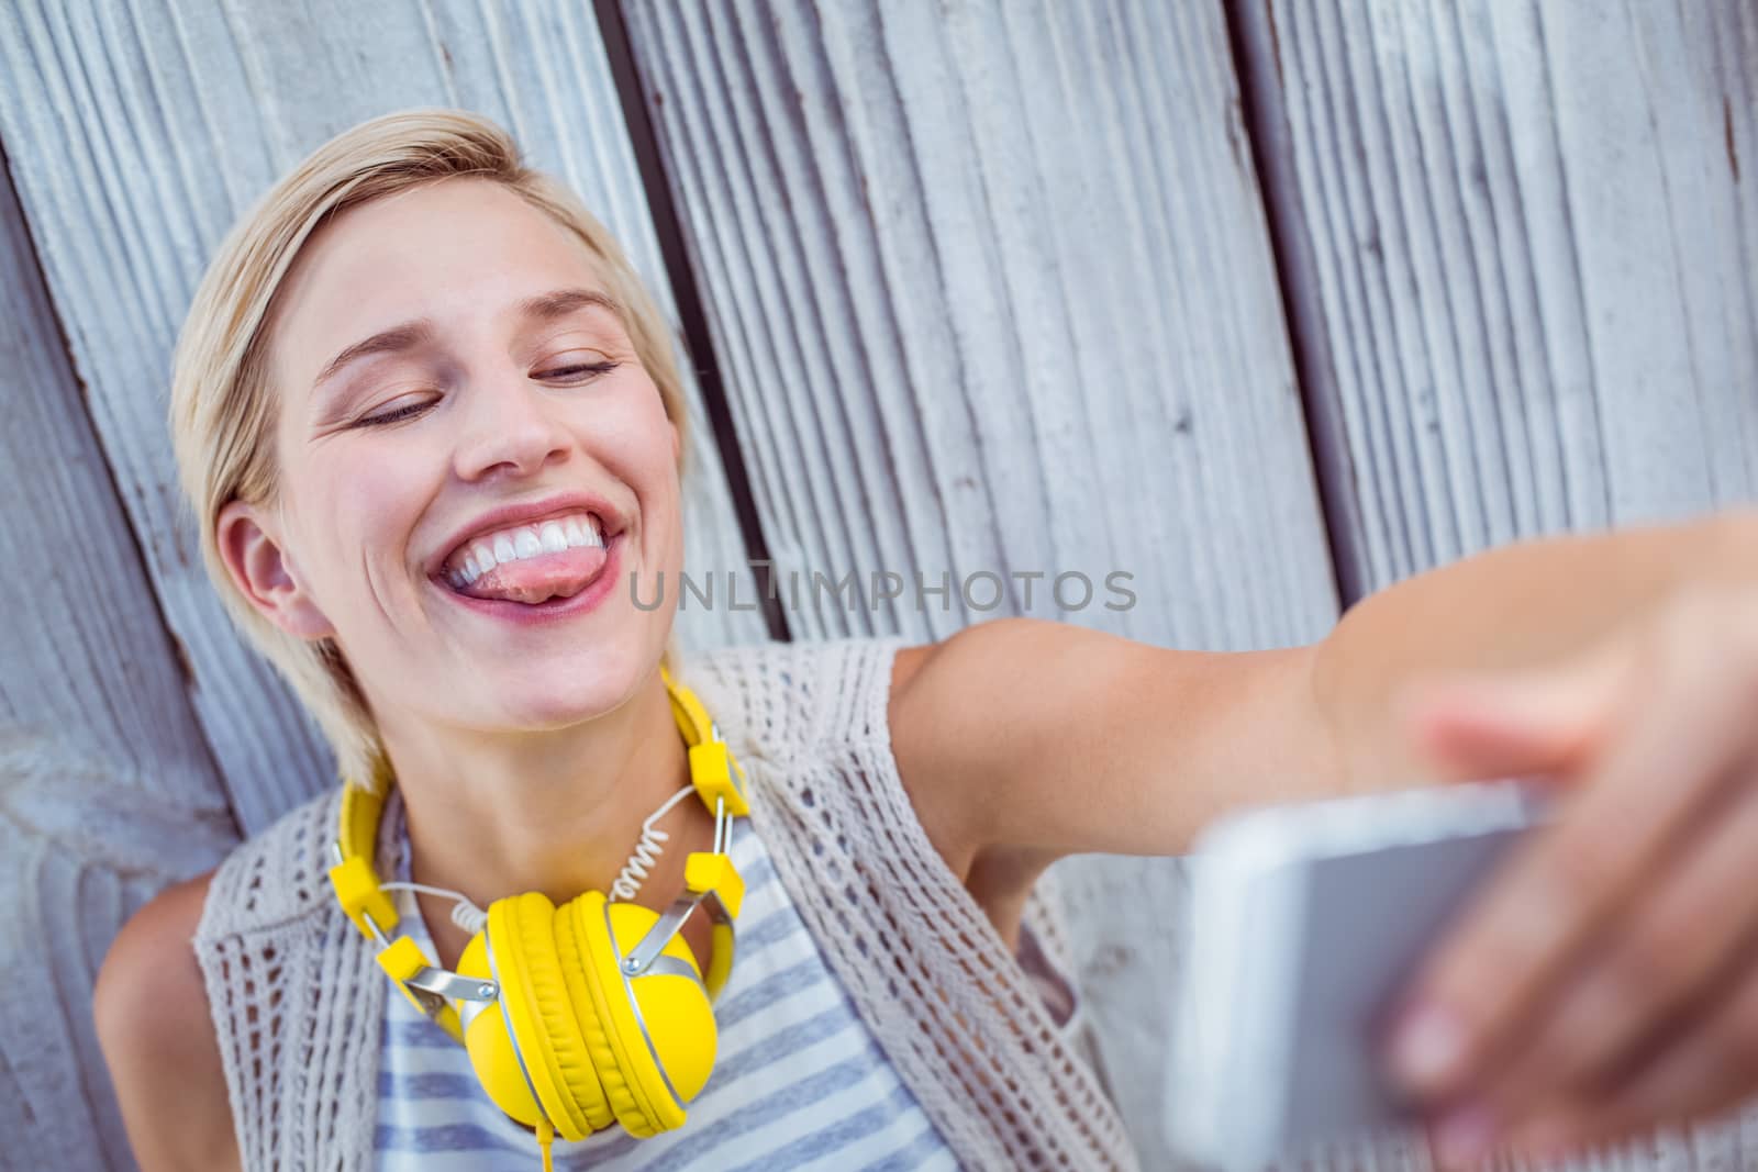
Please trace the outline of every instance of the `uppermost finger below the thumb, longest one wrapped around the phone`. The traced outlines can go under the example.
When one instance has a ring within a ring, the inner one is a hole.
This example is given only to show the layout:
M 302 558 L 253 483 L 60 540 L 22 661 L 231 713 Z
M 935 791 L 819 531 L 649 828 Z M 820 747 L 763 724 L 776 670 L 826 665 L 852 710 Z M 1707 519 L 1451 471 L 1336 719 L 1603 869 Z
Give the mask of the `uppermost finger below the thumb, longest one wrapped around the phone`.
M 1758 652 L 1718 654 L 1714 634 L 1700 617 L 1672 620 L 1654 643 L 1651 705 L 1614 729 L 1565 817 L 1515 849 L 1424 963 L 1392 1047 L 1417 1095 L 1463 1096 L 1508 1053 L 1558 973 L 1749 750 Z

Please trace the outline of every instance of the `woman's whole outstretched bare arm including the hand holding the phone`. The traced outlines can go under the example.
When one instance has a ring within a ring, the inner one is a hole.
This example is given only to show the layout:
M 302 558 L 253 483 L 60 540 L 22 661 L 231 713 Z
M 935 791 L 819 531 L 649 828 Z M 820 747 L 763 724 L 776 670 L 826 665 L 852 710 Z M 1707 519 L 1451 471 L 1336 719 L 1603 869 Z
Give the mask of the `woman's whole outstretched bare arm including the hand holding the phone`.
M 1398 1068 L 1440 1158 L 1556 1154 L 1758 1089 L 1754 510 L 1493 550 L 1308 648 L 986 624 L 902 659 L 893 720 L 930 836 L 1004 933 L 1058 854 L 1176 852 L 1239 803 L 1549 777 L 1561 817 L 1406 991 Z

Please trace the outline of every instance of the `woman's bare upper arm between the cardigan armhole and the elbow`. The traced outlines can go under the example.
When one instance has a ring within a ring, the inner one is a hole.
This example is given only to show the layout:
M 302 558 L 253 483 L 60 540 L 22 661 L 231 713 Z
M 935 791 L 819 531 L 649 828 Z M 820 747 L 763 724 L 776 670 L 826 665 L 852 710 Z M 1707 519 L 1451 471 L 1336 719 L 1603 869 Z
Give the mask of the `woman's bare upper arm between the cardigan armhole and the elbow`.
M 1028 873 L 1065 854 L 1180 854 L 1241 796 L 1324 791 L 1313 778 L 1336 773 L 1317 647 L 1194 652 L 983 622 L 898 652 L 898 771 L 948 861 Z

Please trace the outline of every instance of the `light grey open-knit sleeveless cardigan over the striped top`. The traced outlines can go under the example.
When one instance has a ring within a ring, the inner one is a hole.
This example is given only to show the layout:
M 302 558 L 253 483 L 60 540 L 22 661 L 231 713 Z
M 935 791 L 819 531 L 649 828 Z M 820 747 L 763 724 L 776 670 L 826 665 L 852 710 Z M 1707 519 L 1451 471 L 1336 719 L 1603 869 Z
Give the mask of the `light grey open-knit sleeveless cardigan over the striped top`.
M 1083 1042 L 1058 1030 L 928 842 L 886 703 L 904 640 L 766 643 L 689 657 L 756 791 L 775 872 L 898 1077 L 967 1168 L 1136 1168 Z M 331 894 L 339 787 L 220 865 L 195 935 L 244 1168 L 367 1172 L 389 982 Z M 392 842 L 380 838 L 380 873 Z M 1060 968 L 1034 891 L 1027 924 Z

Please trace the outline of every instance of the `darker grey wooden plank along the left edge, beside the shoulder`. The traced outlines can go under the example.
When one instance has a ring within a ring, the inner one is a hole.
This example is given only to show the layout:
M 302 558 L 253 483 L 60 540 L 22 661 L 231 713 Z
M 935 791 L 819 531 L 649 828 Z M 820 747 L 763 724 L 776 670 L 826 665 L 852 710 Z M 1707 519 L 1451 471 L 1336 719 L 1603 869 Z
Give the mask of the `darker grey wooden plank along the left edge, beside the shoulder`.
M 109 940 L 237 838 L 0 172 L 0 1167 L 130 1168 Z

